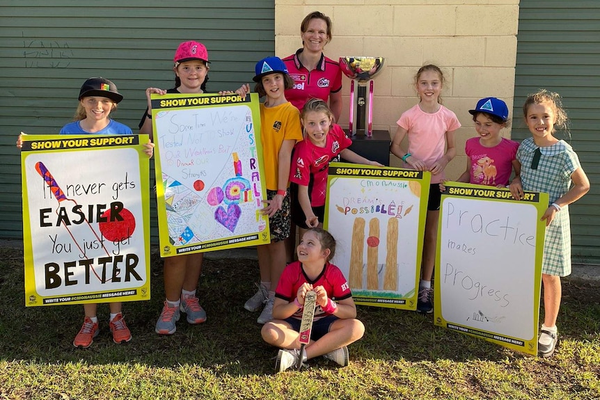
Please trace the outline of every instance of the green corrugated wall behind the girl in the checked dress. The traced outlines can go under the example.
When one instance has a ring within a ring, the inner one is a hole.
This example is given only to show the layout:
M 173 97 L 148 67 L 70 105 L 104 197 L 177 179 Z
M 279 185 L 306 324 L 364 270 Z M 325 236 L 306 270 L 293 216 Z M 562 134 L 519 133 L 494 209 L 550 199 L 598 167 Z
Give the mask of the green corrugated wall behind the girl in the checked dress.
M 528 93 L 562 95 L 570 143 L 592 184 L 570 207 L 573 261 L 600 264 L 600 1 L 521 0 L 517 40 L 512 136 L 530 136 L 521 108 Z

